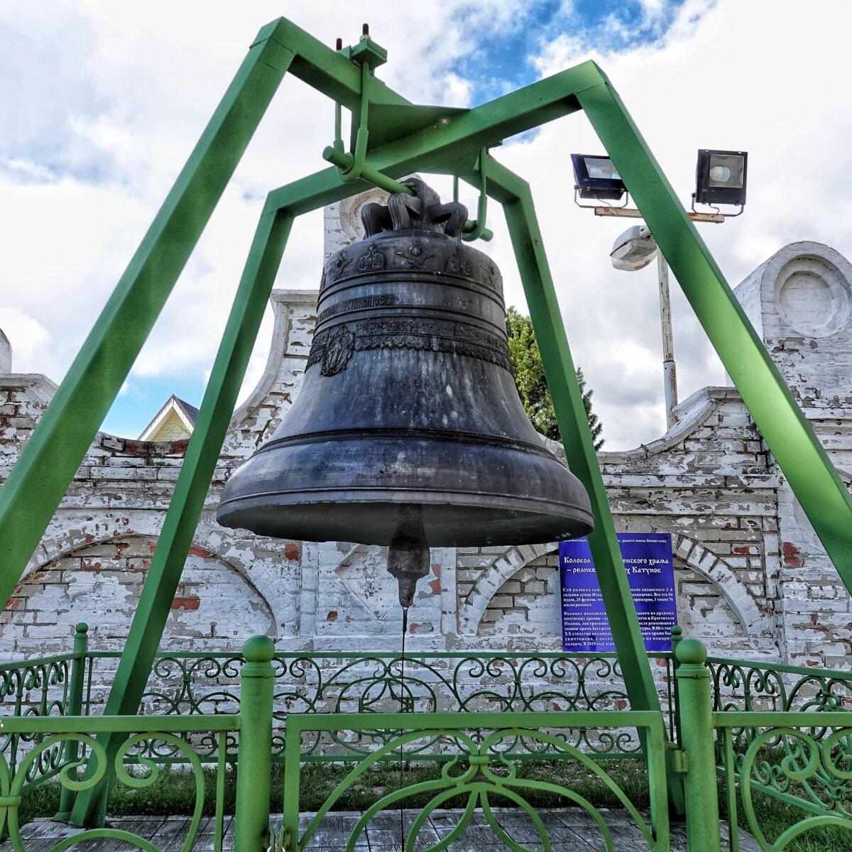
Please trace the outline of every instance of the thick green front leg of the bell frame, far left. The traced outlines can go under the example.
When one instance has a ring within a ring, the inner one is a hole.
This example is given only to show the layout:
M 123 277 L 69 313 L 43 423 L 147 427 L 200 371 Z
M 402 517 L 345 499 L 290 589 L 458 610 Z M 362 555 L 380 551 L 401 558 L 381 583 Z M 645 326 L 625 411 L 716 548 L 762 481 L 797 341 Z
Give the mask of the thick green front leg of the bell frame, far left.
M 89 451 L 292 59 L 262 29 L 0 491 L 0 601 Z

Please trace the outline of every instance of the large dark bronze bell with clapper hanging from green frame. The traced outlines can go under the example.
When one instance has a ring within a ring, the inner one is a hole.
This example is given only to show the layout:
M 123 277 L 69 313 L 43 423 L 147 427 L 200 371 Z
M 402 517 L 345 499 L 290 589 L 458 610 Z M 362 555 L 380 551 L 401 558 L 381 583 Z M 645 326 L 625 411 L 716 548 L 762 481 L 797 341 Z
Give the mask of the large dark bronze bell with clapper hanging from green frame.
M 460 241 L 463 205 L 409 185 L 366 205 L 366 239 L 325 264 L 302 390 L 217 514 L 277 538 L 389 544 L 404 607 L 429 546 L 592 527 L 583 486 L 518 398 L 498 268 Z

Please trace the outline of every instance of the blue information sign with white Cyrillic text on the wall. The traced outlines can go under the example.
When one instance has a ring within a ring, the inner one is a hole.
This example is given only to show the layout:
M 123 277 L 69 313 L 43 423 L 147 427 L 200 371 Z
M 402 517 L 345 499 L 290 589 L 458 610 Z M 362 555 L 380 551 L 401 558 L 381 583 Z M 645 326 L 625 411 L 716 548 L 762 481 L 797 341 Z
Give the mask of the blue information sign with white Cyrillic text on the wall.
M 669 533 L 619 533 L 630 591 L 648 651 L 671 651 L 677 624 L 675 567 Z M 562 650 L 614 651 L 601 586 L 587 538 L 559 543 Z

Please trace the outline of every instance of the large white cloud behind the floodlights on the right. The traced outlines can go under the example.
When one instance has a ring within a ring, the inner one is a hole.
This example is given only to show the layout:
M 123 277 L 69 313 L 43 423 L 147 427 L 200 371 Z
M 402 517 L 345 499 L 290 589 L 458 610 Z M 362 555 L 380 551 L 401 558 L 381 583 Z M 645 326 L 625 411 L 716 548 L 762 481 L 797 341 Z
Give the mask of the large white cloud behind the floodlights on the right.
M 845 3 L 821 4 L 819 15 L 803 15 L 791 2 L 687 3 L 659 44 L 599 55 L 563 35 L 544 45 L 538 68 L 544 74 L 589 58 L 598 61 L 687 206 L 699 147 L 749 152 L 745 214 L 701 229 L 728 282 L 736 285 L 793 240 L 815 239 L 852 255 L 852 94 L 843 83 L 850 23 L 852 9 Z M 533 186 L 573 353 L 596 391 L 607 449 L 615 449 L 653 440 L 665 429 L 665 415 L 653 267 L 638 273 L 609 268 L 612 241 L 625 223 L 598 220 L 570 200 L 567 154 L 602 150 L 588 121 L 575 114 L 496 156 Z M 497 240 L 508 270 L 502 231 Z M 509 287 L 520 302 L 517 286 Z M 724 379 L 691 308 L 674 284 L 673 290 L 685 399 Z M 638 423 L 636 377 L 622 369 L 636 346 L 647 354 L 643 364 L 653 384 L 645 400 L 656 400 L 657 412 Z

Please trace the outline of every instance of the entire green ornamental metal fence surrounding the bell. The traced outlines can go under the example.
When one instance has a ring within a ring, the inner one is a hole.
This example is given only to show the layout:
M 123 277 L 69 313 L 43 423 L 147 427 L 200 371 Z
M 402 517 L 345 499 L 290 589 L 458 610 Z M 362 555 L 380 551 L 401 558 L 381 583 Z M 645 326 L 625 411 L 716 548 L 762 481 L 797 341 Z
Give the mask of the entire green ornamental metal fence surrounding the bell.
M 153 787 L 170 763 L 184 765 L 196 786 L 186 852 L 200 839 L 205 807 L 215 817 L 212 836 L 204 838 L 222 849 L 233 765 L 239 852 L 270 843 L 288 852 L 316 845 L 341 797 L 363 788 L 372 768 L 400 759 L 431 763 L 435 771 L 429 780 L 413 776 L 406 783 L 400 776 L 393 789 L 377 790 L 363 815 L 349 821 L 346 848 L 363 848 L 371 819 L 406 807 L 416 814 L 405 826 L 406 849 L 446 848 L 469 825 L 510 849 L 552 849 L 550 822 L 529 801 L 547 792 L 550 802 L 583 809 L 601 848 L 617 849 L 611 812 L 565 780 L 577 772 L 606 789 L 652 850 L 671 848 L 665 800 L 673 777 L 685 790 L 690 852 L 721 848 L 720 813 L 734 850 L 739 823 L 766 852 L 825 826 L 852 828 L 852 675 L 845 673 L 707 659 L 699 642 L 676 641 L 675 654 L 653 657 L 664 707 L 657 713 L 630 709 L 618 662 L 607 654 L 417 654 L 406 656 L 402 671 L 398 654 L 274 653 L 272 642 L 256 637 L 239 654 L 160 655 L 141 715 L 103 716 L 98 683 L 111 676 L 116 657 L 89 653 L 79 625 L 72 653 L 0 665 L 0 826 L 16 852 L 26 848 L 18 825 L 26 789 L 58 782 L 58 816 L 67 819 L 78 792 L 105 777 Z M 105 732 L 121 739 L 112 754 L 94 739 Z M 625 758 L 648 767 L 647 803 L 634 801 L 613 769 L 613 759 Z M 560 761 L 576 772 L 543 780 L 521 771 L 534 761 Z M 314 804 L 316 813 L 300 820 L 300 775 L 320 762 L 345 769 Z M 274 763 L 283 764 L 284 821 L 270 841 Z M 203 767 L 216 776 L 216 792 L 206 794 L 213 803 L 205 802 Z M 771 839 L 759 807 L 767 797 L 791 815 L 789 827 Z M 458 809 L 456 821 L 435 838 L 430 815 L 447 803 Z M 527 820 L 521 833 L 516 821 L 504 828 L 507 807 L 513 819 Z M 156 838 L 129 833 L 90 828 L 51 852 L 87 838 L 157 849 Z

